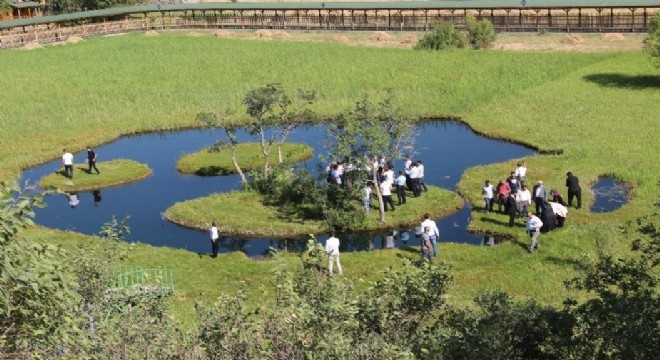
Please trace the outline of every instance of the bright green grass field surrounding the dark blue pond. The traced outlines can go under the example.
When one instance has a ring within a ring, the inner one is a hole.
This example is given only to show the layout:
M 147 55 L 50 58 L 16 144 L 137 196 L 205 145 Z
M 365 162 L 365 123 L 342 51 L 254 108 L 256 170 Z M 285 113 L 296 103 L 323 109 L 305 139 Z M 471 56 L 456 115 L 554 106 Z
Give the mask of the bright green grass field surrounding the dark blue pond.
M 533 36 L 533 35 L 532 35 Z M 460 117 L 489 137 L 529 144 L 560 155 L 527 159 L 531 181 L 565 190 L 570 170 L 588 185 L 608 174 L 632 186 L 629 204 L 608 214 L 571 210 L 568 227 L 543 235 L 528 255 L 519 224 L 501 215 L 474 213 L 473 229 L 509 233 L 496 247 L 441 245 L 453 268 L 450 301 L 469 305 L 483 289 L 502 288 L 518 298 L 559 305 L 563 281 L 606 251 L 625 255 L 629 239 L 619 225 L 648 213 L 658 201 L 660 173 L 660 72 L 641 53 L 505 51 L 417 52 L 326 43 L 237 41 L 167 33 L 96 38 L 76 45 L 0 52 L 4 82 L 0 106 L 0 177 L 122 134 L 195 126 L 195 114 L 218 96 L 247 116 L 240 100 L 251 88 L 279 82 L 293 91 L 318 90 L 314 110 L 329 117 L 352 107 L 364 93 L 392 88 L 407 119 Z M 11 89 L 8 91 L 7 89 Z M 75 134 L 76 136 L 72 136 Z M 33 141 L 35 137 L 39 141 Z M 78 139 L 85 139 L 80 142 Z M 438 154 L 450 157 L 451 154 Z M 485 178 L 513 169 L 513 162 L 467 171 L 459 191 L 477 206 Z M 35 239 L 72 246 L 91 239 L 35 229 Z M 415 249 L 414 252 L 417 250 Z M 373 279 L 396 266 L 406 249 L 342 255 L 347 277 Z M 286 255 L 287 266 L 296 266 Z M 135 246 L 127 262 L 174 269 L 175 315 L 185 323 L 195 301 L 247 286 L 251 301 L 272 290 L 273 260 L 226 254 L 215 261 L 194 253 Z

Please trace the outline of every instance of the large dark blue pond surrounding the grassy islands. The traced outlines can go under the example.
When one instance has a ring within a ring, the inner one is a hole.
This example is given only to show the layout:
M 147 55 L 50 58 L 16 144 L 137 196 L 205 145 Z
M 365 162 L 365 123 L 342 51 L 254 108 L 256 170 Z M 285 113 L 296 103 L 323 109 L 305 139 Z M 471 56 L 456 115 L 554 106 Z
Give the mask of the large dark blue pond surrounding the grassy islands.
M 461 174 L 467 168 L 535 154 L 533 150 L 521 145 L 478 136 L 459 122 L 424 122 L 420 123 L 418 130 L 415 146 L 419 155 L 415 156 L 415 159 L 424 162 L 426 183 L 449 190 L 455 190 Z M 323 152 L 325 131 L 325 126 L 309 126 L 298 129 L 289 136 L 289 141 L 306 143 L 315 149 L 314 158 L 300 166 L 315 171 L 319 163 L 317 156 Z M 49 196 L 46 198 L 48 206 L 37 209 L 35 220 L 38 224 L 51 228 L 98 234 L 101 225 L 113 215 L 118 219 L 130 215 L 129 241 L 207 253 L 210 251 L 210 244 L 205 232 L 174 225 L 164 220 L 161 214 L 176 202 L 240 189 L 237 175 L 200 177 L 180 174 L 175 169 L 176 162 L 182 155 L 199 151 L 222 137 L 222 132 L 209 130 L 159 132 L 127 136 L 95 148 L 98 161 L 132 159 L 147 164 L 153 170 L 153 175 L 133 184 L 101 189 L 100 194 L 79 193 L 79 204 L 75 208 L 69 206 L 69 199 L 64 195 Z M 239 139 L 246 142 L 249 141 L 249 136 L 240 133 Z M 86 153 L 81 152 L 74 156 L 76 163 L 82 163 Z M 394 165 L 398 170 L 402 164 L 403 161 L 399 161 Z M 37 182 L 44 175 L 58 170 L 60 166 L 60 160 L 57 159 L 28 169 L 22 174 L 22 181 Z M 103 173 L 103 169 L 99 170 Z M 493 178 L 499 175 L 505 174 L 493 174 Z M 484 243 L 483 235 L 469 234 L 465 230 L 470 222 L 470 211 L 470 207 L 465 206 L 457 213 L 437 220 L 441 242 L 475 245 Z M 344 235 L 339 238 L 342 240 L 343 251 L 419 245 L 420 239 L 406 230 L 402 229 L 394 243 L 386 234 Z M 405 240 L 406 238 L 408 240 Z M 319 237 L 318 240 L 324 241 L 325 238 Z M 302 241 L 223 237 L 220 251 L 243 251 L 250 256 L 257 256 L 267 252 L 269 246 L 291 249 Z

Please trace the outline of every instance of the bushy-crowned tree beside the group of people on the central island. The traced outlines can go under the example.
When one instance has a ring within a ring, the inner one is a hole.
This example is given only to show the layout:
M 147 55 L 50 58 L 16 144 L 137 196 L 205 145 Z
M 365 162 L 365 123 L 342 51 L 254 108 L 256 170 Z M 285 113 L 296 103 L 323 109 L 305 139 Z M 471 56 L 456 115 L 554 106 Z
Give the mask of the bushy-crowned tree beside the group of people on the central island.
M 330 140 L 327 147 L 331 158 L 344 160 L 356 169 L 369 169 L 373 183 L 378 184 L 377 169 L 372 166 L 371 157 L 401 158 L 403 149 L 412 147 L 414 143 L 413 132 L 414 125 L 401 119 L 398 108 L 392 102 L 392 92 L 388 90 L 384 99 L 376 105 L 365 95 L 354 109 L 337 116 L 328 127 Z M 376 195 L 380 219 L 385 221 L 385 208 L 378 186 Z

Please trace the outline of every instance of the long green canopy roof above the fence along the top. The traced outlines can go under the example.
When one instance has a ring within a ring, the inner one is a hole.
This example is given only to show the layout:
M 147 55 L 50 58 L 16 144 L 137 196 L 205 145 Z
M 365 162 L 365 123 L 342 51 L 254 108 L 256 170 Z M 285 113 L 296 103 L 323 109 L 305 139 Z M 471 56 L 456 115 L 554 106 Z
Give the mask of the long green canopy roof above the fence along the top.
M 28 2 L 34 3 L 34 2 Z M 13 4 L 25 4 L 13 3 Z M 382 2 L 267 2 L 267 3 L 196 3 L 171 5 L 142 5 L 70 14 L 42 16 L 29 19 L 0 21 L 0 29 L 57 23 L 87 18 L 105 18 L 159 11 L 185 10 L 457 10 L 457 9 L 593 9 L 593 8 L 660 8 L 659 0 L 436 0 Z

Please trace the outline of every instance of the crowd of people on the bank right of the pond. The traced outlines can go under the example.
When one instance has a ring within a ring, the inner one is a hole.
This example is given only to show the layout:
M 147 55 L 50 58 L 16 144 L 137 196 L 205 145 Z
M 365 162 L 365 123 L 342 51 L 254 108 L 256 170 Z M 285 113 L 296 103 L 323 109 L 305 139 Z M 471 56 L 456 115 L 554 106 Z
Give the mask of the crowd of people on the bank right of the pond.
M 497 186 L 486 180 L 482 188 L 484 211 L 493 211 L 497 203 L 497 211 L 509 216 L 509 227 L 513 227 L 516 218 L 526 217 L 525 228 L 530 235 L 531 244 L 529 252 L 539 248 L 537 237 L 540 232 L 547 232 L 556 227 L 563 227 L 568 214 L 568 207 L 576 198 L 576 208 L 582 207 L 582 191 L 578 178 L 570 171 L 566 174 L 566 187 L 568 189 L 568 204 L 555 188 L 548 190 L 542 180 L 538 180 L 530 191 L 527 183 L 527 166 L 524 161 L 517 164 L 514 171 L 506 179 L 499 180 Z M 531 211 L 532 202 L 534 212 Z

